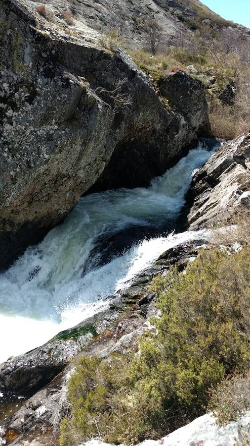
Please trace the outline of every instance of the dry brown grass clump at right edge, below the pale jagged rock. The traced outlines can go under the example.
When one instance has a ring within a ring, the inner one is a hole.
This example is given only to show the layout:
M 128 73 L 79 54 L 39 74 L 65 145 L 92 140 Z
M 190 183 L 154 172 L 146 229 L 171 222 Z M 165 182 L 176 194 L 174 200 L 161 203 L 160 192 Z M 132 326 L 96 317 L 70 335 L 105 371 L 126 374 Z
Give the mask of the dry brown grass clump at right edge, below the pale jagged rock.
M 221 223 L 220 227 L 211 228 L 211 242 L 231 244 L 234 242 L 250 243 L 250 209 L 240 207 L 232 217 Z

